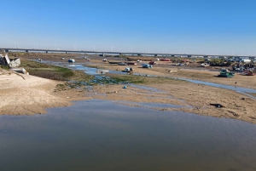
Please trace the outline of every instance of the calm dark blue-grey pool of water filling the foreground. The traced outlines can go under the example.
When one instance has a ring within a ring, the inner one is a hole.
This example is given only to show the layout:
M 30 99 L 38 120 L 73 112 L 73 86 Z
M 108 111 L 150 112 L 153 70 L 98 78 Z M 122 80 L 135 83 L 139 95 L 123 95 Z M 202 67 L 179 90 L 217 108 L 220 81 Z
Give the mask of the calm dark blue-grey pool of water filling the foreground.
M 6 170 L 256 170 L 256 126 L 177 111 L 79 101 L 0 117 Z

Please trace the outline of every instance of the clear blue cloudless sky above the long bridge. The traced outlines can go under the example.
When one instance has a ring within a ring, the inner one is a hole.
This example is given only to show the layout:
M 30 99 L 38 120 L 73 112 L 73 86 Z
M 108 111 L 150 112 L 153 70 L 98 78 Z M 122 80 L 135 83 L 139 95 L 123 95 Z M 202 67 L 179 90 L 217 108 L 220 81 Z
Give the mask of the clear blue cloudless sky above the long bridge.
M 256 55 L 254 0 L 0 0 L 0 47 Z

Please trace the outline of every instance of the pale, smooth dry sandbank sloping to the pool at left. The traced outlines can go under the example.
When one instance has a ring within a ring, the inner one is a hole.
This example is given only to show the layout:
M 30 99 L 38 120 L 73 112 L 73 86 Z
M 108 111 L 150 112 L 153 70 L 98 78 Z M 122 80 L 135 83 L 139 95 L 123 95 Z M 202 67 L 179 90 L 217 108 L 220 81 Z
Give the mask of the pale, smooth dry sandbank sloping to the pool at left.
M 45 108 L 71 105 L 70 100 L 81 99 L 73 91 L 55 94 L 55 86 L 60 82 L 24 74 L 20 76 L 0 69 L 0 115 L 44 113 Z

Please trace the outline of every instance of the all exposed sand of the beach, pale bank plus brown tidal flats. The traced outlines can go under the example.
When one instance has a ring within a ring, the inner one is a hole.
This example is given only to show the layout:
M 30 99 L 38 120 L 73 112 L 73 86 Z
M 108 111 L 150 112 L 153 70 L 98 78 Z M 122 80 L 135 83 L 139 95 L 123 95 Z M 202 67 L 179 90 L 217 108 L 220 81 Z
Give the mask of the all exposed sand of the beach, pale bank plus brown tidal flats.
M 102 69 L 121 71 L 125 66 L 113 66 L 102 60 L 90 60 L 90 66 Z M 184 77 L 211 83 L 220 83 L 244 88 L 255 88 L 256 78 L 236 74 L 235 77 L 219 78 L 218 70 L 207 71 L 193 68 L 177 68 L 177 66 L 144 69 L 132 66 L 136 73 L 154 76 Z M 170 72 L 171 71 L 171 72 Z M 145 79 L 148 79 L 145 77 Z M 256 100 L 244 94 L 224 88 L 214 88 L 196 83 L 179 80 L 169 81 L 158 79 L 144 86 L 157 88 L 144 89 L 134 86 L 123 88 L 123 85 L 96 85 L 90 91 L 65 89 L 55 91 L 59 81 L 53 81 L 29 75 L 19 75 L 10 71 L 0 71 L 0 114 L 3 115 L 32 115 L 45 113 L 45 108 L 72 105 L 73 100 L 102 99 L 133 102 L 154 102 L 163 104 L 182 105 L 180 108 L 155 108 L 160 111 L 185 111 L 204 116 L 227 117 L 249 123 L 256 123 Z M 122 102 L 124 105 L 125 103 Z M 210 104 L 221 104 L 218 108 Z M 131 105 L 131 104 L 130 104 Z

